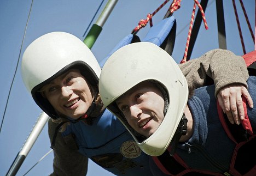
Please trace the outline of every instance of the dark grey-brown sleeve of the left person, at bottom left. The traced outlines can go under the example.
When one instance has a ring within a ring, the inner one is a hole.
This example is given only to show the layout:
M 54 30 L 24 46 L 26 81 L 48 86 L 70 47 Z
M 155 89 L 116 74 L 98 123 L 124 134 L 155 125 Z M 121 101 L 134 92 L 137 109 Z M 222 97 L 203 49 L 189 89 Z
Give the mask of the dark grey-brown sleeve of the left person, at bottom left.
M 49 119 L 48 133 L 50 142 L 53 140 L 56 126 L 57 124 Z M 86 175 L 88 157 L 78 152 L 77 145 L 72 136 L 63 139 L 61 133 L 58 132 L 54 149 L 53 168 L 54 172 L 50 174 L 51 176 Z

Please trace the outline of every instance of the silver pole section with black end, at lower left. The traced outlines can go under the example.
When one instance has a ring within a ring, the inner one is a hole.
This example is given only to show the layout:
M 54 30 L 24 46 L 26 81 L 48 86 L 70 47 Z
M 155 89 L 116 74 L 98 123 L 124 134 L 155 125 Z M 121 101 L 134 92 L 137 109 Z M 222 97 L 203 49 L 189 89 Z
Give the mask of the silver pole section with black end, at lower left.
M 44 112 L 40 113 L 30 135 L 27 137 L 22 149 L 19 151 L 11 167 L 9 168 L 7 176 L 16 175 L 16 173 L 19 171 L 20 166 L 25 160 L 27 154 L 30 152 L 30 149 L 33 147 L 34 142 L 36 142 L 37 137 L 40 135 L 40 132 L 43 130 L 44 125 L 46 122 L 48 122 L 49 118 L 50 117 Z

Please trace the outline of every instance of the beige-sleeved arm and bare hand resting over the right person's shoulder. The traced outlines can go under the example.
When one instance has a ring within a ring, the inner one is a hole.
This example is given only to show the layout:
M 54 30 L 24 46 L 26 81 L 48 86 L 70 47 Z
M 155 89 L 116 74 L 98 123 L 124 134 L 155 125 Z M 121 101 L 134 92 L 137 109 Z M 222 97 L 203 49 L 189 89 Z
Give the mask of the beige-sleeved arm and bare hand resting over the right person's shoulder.
M 206 86 L 207 77 L 212 78 L 216 85 L 215 96 L 231 123 L 234 123 L 234 120 L 237 124 L 240 123 L 238 112 L 240 118 L 244 118 L 241 95 L 244 95 L 249 106 L 253 107 L 251 96 L 246 89 L 249 75 L 245 60 L 241 56 L 236 56 L 228 50 L 217 49 L 179 66 L 190 89 Z

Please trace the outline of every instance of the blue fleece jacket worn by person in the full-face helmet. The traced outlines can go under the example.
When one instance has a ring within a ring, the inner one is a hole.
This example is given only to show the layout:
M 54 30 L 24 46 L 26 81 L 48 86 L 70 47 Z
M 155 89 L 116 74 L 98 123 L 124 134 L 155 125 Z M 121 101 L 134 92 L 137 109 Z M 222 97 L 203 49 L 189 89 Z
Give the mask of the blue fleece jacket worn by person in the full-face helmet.
M 256 102 L 256 77 L 250 76 L 247 83 L 249 94 Z M 229 171 L 236 144 L 226 135 L 220 123 L 214 85 L 196 89 L 188 106 L 193 114 L 194 132 L 188 142 L 179 145 L 177 154 L 191 168 L 218 173 Z M 256 108 L 247 106 L 247 113 L 256 133 Z M 255 162 L 255 159 L 252 160 Z

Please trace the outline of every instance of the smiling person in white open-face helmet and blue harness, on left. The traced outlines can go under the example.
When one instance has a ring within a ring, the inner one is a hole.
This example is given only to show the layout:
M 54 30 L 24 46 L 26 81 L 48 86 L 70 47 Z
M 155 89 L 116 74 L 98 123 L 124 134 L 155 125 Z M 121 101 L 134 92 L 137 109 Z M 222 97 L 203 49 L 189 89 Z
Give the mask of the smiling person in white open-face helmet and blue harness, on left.
M 115 175 L 153 175 L 150 169 L 158 167 L 149 166 L 151 157 L 103 107 L 101 68 L 83 41 L 65 32 L 42 35 L 26 48 L 21 72 L 34 101 L 51 118 L 51 175 L 85 175 L 88 158 Z

